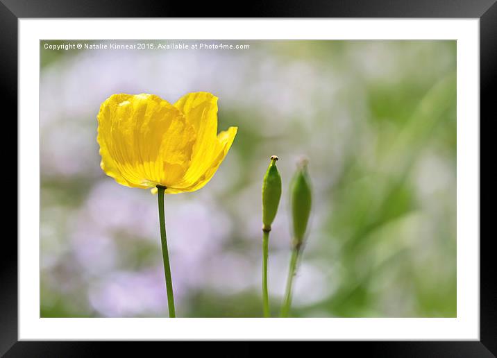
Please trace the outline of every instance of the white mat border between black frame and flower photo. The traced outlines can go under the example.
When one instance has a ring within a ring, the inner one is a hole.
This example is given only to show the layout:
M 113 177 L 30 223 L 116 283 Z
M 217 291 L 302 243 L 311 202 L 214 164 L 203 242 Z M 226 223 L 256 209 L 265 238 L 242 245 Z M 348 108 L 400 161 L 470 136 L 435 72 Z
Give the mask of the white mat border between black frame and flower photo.
M 479 340 L 478 19 L 19 19 L 19 340 Z M 40 39 L 457 40 L 457 318 L 40 318 Z

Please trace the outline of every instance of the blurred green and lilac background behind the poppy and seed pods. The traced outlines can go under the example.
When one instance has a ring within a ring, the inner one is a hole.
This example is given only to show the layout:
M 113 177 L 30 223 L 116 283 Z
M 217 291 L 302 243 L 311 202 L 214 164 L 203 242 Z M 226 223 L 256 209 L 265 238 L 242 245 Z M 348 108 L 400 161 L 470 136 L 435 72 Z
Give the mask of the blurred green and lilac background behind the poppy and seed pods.
M 78 42 L 40 42 L 42 317 L 167 316 L 157 197 L 101 171 L 96 114 L 114 93 L 174 103 L 195 91 L 219 97 L 219 130 L 239 131 L 208 185 L 166 196 L 178 316 L 262 316 L 260 191 L 273 154 L 283 178 L 273 315 L 289 264 L 288 185 L 305 155 L 314 205 L 292 316 L 456 316 L 454 41 L 46 43 Z

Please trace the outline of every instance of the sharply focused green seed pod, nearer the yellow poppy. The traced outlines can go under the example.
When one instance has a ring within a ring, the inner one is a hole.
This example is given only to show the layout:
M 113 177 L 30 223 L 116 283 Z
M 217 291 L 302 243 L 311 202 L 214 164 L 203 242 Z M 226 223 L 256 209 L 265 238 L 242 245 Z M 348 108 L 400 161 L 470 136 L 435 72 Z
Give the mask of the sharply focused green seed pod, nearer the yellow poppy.
M 276 168 L 278 157 L 273 155 L 262 182 L 262 230 L 271 231 L 281 197 L 281 177 Z

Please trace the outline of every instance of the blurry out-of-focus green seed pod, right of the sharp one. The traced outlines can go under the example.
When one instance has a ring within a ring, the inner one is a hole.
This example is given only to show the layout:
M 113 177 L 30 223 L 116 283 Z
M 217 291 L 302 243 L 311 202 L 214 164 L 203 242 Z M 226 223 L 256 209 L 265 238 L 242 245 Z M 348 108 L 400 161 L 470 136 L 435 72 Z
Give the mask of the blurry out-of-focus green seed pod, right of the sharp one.
M 294 246 L 300 246 L 303 242 L 311 210 L 312 193 L 307 164 L 307 160 L 302 160 L 297 165 L 297 171 L 290 184 Z

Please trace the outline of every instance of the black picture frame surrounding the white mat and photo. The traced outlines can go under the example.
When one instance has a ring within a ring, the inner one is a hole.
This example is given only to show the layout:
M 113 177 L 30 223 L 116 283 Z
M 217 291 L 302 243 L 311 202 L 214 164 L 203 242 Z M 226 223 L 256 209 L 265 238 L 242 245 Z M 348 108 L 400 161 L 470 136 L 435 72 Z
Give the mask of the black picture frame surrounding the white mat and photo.
M 198 3 L 152 0 L 0 0 L 0 75 L 3 103 L 17 103 L 17 26 L 22 18 L 43 17 L 416 17 L 480 19 L 480 123 L 495 119 L 497 87 L 497 3 L 496 0 L 320 0 L 264 1 L 258 3 Z M 10 118 L 17 118 L 17 106 L 10 106 Z M 7 119 L 4 121 L 15 123 Z M 14 128 L 17 133 L 17 126 Z M 13 137 L 13 135 L 12 135 Z M 5 146 L 5 145 L 4 145 Z M 9 146 L 12 152 L 12 146 Z M 13 160 L 13 156 L 10 155 Z M 16 155 L 17 168 L 17 155 Z M 33 181 L 37 185 L 37 180 Z M 17 187 L 17 192 L 21 189 Z M 11 210 L 16 212 L 17 210 Z M 481 235 L 480 235 L 481 236 Z M 4 235 L 0 249 L 0 355 L 5 357 L 73 357 L 99 355 L 112 345 L 116 355 L 140 356 L 143 343 L 103 342 L 19 342 L 17 322 L 17 242 Z M 474 238 L 478 239 L 478 238 Z M 492 237 L 480 237 L 480 341 L 328 342 L 336 348 L 364 352 L 373 357 L 497 357 L 497 280 L 494 278 Z M 176 343 L 156 342 L 167 344 Z M 191 343 L 189 343 L 191 344 Z M 224 346 L 230 357 L 256 355 L 259 348 Z M 96 347 L 98 345 L 98 348 Z M 139 345 L 139 346 L 136 346 Z M 280 343 L 281 346 L 281 343 Z M 141 348 L 140 348 L 141 347 Z M 292 343 L 287 348 L 295 352 Z M 331 348 L 333 347 L 333 348 Z M 148 347 L 147 347 L 148 348 Z M 214 348 L 219 349 L 219 348 Z M 229 353 L 231 352 L 231 353 Z M 337 352 L 337 351 L 335 351 Z

